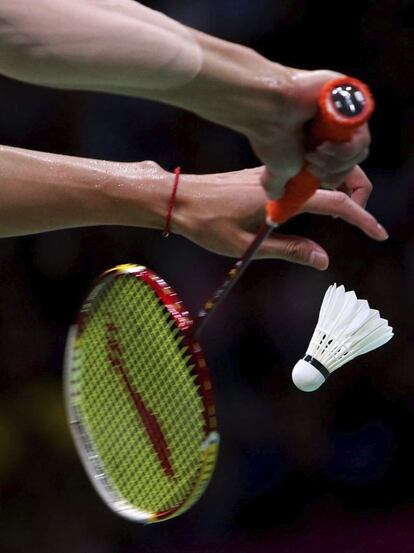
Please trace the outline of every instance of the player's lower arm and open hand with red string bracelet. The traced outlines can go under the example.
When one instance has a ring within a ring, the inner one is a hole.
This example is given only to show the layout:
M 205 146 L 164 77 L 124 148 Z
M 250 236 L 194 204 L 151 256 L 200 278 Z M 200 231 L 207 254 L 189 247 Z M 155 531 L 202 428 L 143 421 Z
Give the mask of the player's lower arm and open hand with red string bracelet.
M 0 166 L 0 236 L 92 225 L 164 228 L 174 175 L 154 162 L 115 163 L 3 146 Z M 262 173 L 258 167 L 181 175 L 173 232 L 218 254 L 240 256 L 263 222 L 267 196 Z M 354 178 L 343 191 L 319 190 L 303 211 L 340 217 L 374 240 L 383 240 L 384 229 L 362 207 L 370 189 L 363 173 L 357 173 L 359 180 Z M 277 233 L 263 244 L 258 257 L 319 270 L 329 262 L 315 242 Z

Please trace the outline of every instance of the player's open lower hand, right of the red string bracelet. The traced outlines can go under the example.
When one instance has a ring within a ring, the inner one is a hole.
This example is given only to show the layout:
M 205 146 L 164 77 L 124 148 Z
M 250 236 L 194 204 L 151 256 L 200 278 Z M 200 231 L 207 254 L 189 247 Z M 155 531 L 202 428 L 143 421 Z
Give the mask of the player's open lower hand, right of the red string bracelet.
M 265 218 L 268 200 L 262 186 L 263 168 L 215 175 L 183 175 L 173 213 L 173 231 L 221 255 L 239 257 L 253 240 Z M 302 212 L 339 217 L 374 240 L 386 240 L 386 231 L 364 207 L 372 185 L 356 167 L 342 190 L 318 190 Z M 325 270 L 327 252 L 316 242 L 299 236 L 273 233 L 257 258 L 284 259 Z

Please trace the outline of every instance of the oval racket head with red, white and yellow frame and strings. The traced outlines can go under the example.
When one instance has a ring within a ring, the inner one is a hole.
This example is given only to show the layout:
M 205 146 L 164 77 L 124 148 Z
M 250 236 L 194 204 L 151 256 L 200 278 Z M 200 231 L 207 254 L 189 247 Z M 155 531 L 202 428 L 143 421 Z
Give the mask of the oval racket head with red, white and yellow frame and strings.
M 216 408 L 192 324 L 163 279 L 119 265 L 99 277 L 69 330 L 71 434 L 96 491 L 130 520 L 181 514 L 214 471 Z

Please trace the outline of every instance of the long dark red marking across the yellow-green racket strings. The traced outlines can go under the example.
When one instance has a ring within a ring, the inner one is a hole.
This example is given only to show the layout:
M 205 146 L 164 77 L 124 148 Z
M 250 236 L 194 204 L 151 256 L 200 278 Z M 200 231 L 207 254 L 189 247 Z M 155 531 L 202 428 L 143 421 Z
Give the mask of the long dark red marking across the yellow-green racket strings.
M 110 319 L 106 323 L 106 329 L 107 343 L 109 349 L 109 362 L 111 363 L 112 368 L 121 375 L 125 388 L 129 394 L 129 397 L 135 405 L 137 413 L 145 427 L 145 430 L 147 431 L 148 437 L 158 456 L 158 459 L 165 474 L 169 478 L 173 478 L 175 476 L 175 471 L 170 460 L 170 448 L 167 445 L 167 441 L 156 416 L 148 409 L 139 392 L 137 390 L 134 390 L 132 386 L 132 383 L 129 379 L 128 371 L 126 370 L 122 359 L 121 346 L 116 338 L 117 328 L 113 321 L 111 321 Z

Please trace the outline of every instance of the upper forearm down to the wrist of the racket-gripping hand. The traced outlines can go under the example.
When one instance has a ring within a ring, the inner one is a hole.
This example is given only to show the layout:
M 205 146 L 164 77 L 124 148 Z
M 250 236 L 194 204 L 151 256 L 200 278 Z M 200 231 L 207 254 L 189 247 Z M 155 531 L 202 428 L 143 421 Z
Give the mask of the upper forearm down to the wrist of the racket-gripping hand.
M 263 132 L 261 119 L 282 119 L 290 79 L 289 69 L 252 50 L 132 0 L 36 0 L 35 9 L 0 0 L 0 71 L 160 100 L 250 134 L 251 126 Z

